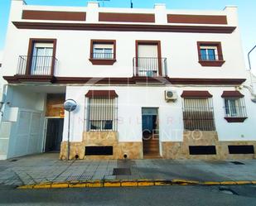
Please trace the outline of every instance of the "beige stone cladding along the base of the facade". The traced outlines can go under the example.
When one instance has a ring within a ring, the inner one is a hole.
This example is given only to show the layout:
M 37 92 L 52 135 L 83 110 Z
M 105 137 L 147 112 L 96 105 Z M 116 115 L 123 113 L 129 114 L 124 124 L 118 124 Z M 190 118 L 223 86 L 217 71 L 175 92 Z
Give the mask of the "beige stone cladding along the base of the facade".
M 255 159 L 256 154 L 229 154 L 228 146 L 253 145 L 256 141 L 219 141 L 217 132 L 184 132 L 183 141 L 162 141 L 162 158 L 166 159 L 198 159 L 198 160 L 225 160 L 225 159 Z M 85 156 L 85 146 L 113 146 L 113 156 Z M 215 146 L 216 155 L 190 155 L 189 146 Z M 116 160 L 142 159 L 142 142 L 119 142 L 117 132 L 84 132 L 83 141 L 70 142 L 70 160 Z M 60 160 L 65 160 L 67 142 L 61 142 Z

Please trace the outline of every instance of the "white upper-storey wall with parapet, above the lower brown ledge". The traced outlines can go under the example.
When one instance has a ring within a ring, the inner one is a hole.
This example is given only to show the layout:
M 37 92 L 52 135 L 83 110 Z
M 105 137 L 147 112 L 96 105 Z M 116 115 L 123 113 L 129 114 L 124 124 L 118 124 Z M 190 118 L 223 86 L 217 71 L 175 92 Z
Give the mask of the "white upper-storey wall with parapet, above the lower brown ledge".
M 22 5 L 12 1 L 11 22 L 7 31 L 3 75 L 17 73 L 19 55 L 27 55 L 29 38 L 56 38 L 56 58 L 58 64 L 56 76 L 67 77 L 131 77 L 133 76 L 133 57 L 136 40 L 161 41 L 162 57 L 167 58 L 168 75 L 190 78 L 244 78 L 244 57 L 239 36 L 239 27 L 232 34 L 175 33 L 175 32 L 138 32 L 138 31 L 56 31 L 17 29 L 12 21 L 21 21 L 24 9 L 86 11 L 88 15 L 98 12 L 131 12 L 127 9 L 90 7 L 39 7 Z M 162 11 L 162 7 L 155 9 Z M 88 11 L 87 11 L 88 10 Z M 155 10 L 134 9 L 133 12 L 156 12 Z M 96 11 L 96 12 L 95 12 Z M 173 11 L 167 13 L 206 14 L 205 11 Z M 92 12 L 92 13 L 90 13 Z M 157 12 L 156 12 L 157 13 Z M 237 25 L 236 7 L 227 7 L 224 11 L 208 11 L 208 15 L 227 15 L 228 26 Z M 160 15 L 160 14 L 159 14 Z M 161 15 L 160 15 L 161 16 Z M 162 18 L 160 17 L 159 18 Z M 98 16 L 97 16 L 98 17 Z M 157 16 L 158 17 L 158 16 Z M 22 20 L 24 21 L 24 20 Z M 97 23 L 96 18 L 91 21 Z M 159 20 L 160 21 L 160 20 Z M 158 21 L 158 22 L 159 22 Z M 163 20 L 162 20 L 163 21 Z M 40 21 L 29 21 L 40 22 Z M 51 21 L 50 21 L 51 22 Z M 53 21 L 58 22 L 58 21 Z M 65 22 L 65 21 L 64 21 Z M 160 21 L 161 22 L 161 21 Z M 113 23 L 113 22 L 111 22 Z M 167 24 L 167 22 L 162 22 Z M 170 25 L 170 24 L 169 24 Z M 185 24 L 186 25 L 186 24 Z M 214 25 L 215 26 L 215 25 Z M 17 38 L 19 36 L 19 38 Z M 117 41 L 117 62 L 114 65 L 92 65 L 89 59 L 91 39 L 114 39 Z M 197 41 L 221 41 L 225 64 L 222 67 L 202 67 L 198 63 Z

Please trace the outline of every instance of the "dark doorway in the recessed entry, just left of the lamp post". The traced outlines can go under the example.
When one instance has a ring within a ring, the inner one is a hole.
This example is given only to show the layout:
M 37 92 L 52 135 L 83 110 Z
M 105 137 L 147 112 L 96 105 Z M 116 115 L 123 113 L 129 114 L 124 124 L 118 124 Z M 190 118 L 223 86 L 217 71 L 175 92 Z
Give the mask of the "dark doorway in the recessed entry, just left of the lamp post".
M 62 141 L 63 118 L 48 118 L 46 127 L 45 151 L 60 151 Z

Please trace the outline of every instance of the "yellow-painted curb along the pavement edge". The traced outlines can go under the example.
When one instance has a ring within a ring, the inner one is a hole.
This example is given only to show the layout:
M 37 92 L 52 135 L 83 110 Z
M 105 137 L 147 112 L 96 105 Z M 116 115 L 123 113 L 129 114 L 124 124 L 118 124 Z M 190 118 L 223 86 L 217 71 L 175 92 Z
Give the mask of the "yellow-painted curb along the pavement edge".
M 64 188 L 103 188 L 103 187 L 147 187 L 170 185 L 244 185 L 256 184 L 252 181 L 195 181 L 195 180 L 89 180 L 71 182 L 45 182 L 41 184 L 27 184 L 18 186 L 17 189 L 64 189 Z

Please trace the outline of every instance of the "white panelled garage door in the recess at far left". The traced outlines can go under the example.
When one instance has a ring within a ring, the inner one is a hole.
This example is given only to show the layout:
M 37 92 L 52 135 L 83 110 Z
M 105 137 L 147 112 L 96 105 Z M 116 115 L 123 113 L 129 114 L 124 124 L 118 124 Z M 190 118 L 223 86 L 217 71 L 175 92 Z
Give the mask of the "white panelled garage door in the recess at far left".
M 43 116 L 41 112 L 19 110 L 13 124 L 7 158 L 40 153 L 42 148 Z

